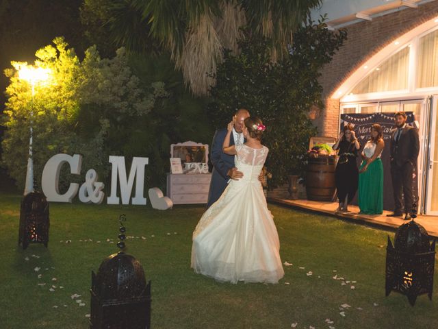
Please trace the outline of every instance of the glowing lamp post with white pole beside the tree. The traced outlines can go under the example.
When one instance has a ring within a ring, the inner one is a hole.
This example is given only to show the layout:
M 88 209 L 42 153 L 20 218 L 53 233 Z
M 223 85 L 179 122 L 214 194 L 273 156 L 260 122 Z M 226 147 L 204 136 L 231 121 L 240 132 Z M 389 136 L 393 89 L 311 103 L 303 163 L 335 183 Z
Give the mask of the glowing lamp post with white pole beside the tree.
M 35 97 L 35 85 L 38 82 L 43 82 L 49 78 L 50 70 L 42 69 L 41 67 L 34 67 L 30 65 L 23 65 L 18 70 L 18 77 L 21 80 L 25 80 L 31 84 L 32 87 L 32 101 L 30 109 L 30 119 L 29 119 L 29 158 L 27 158 L 27 171 L 26 171 L 26 184 L 24 195 L 34 191 L 34 160 L 32 157 L 32 143 L 33 143 L 33 119 L 34 119 L 34 97 Z

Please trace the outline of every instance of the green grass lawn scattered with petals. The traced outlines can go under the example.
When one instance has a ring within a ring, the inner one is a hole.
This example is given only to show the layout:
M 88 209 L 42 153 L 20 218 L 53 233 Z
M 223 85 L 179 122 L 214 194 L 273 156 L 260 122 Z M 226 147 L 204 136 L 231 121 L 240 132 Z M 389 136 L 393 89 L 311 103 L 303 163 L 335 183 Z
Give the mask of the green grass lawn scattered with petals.
M 122 212 L 127 235 L 146 237 L 128 239 L 127 252 L 140 260 L 152 282 L 153 329 L 291 328 L 294 323 L 296 328 L 329 328 L 325 319 L 337 329 L 438 327 L 436 290 L 432 302 L 423 295 L 415 307 L 403 295 L 385 297 L 388 232 L 270 206 L 281 258 L 293 265 L 285 267 L 279 284 L 233 285 L 190 269 L 191 234 L 202 207 L 162 212 L 149 206 L 51 204 L 49 247 L 29 245 L 23 251 L 17 246 L 20 202 L 19 195 L 0 194 L 0 328 L 89 328 L 90 273 L 117 251 L 107 239 L 116 241 Z M 68 239 L 72 243 L 60 242 Z M 79 241 L 88 239 L 92 242 Z M 313 275 L 307 276 L 308 271 Z M 350 289 L 352 283 L 342 286 L 333 280 L 335 274 L 357 281 L 355 289 Z M 46 286 L 38 286 L 44 282 Z M 57 286 L 53 292 L 51 284 Z M 74 293 L 86 306 L 70 298 Z M 344 303 L 351 308 L 342 317 L 339 306 Z

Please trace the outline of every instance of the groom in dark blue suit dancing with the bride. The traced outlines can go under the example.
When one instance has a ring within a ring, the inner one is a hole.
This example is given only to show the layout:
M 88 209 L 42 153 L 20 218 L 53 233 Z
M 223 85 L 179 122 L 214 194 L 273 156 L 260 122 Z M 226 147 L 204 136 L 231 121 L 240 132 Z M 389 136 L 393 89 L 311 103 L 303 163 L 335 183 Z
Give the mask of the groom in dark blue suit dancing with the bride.
M 235 113 L 233 133 L 230 138 L 230 145 L 240 145 L 245 142 L 243 136 L 244 121 L 249 117 L 249 111 L 241 108 Z M 208 193 L 207 208 L 214 204 L 225 191 L 230 180 L 239 180 L 243 173 L 234 167 L 234 156 L 224 154 L 222 144 L 224 143 L 227 128 L 216 130 L 211 142 L 210 160 L 213 164 L 211 172 L 210 189 Z

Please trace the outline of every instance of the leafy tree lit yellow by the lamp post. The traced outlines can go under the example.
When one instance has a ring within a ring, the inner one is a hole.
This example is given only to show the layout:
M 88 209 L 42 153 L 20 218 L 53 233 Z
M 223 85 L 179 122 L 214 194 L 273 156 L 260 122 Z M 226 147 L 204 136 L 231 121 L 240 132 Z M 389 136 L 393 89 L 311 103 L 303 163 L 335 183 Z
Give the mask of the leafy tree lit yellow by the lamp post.
M 132 122 L 144 123 L 155 101 L 168 96 L 160 82 L 140 88 L 124 49 L 112 59 L 102 59 L 90 47 L 80 61 L 63 38 L 53 43 L 36 52 L 35 66 L 49 69 L 51 77 L 36 84 L 34 97 L 31 86 L 17 74 L 26 63 L 13 62 L 14 69 L 5 70 L 10 85 L 2 118 L 7 128 L 2 164 L 20 187 L 25 182 L 30 121 L 37 181 L 45 162 L 57 153 L 82 154 L 83 173 L 94 168 L 105 177 L 108 155 L 120 154 L 113 145 L 120 143 L 119 133 L 129 130 Z

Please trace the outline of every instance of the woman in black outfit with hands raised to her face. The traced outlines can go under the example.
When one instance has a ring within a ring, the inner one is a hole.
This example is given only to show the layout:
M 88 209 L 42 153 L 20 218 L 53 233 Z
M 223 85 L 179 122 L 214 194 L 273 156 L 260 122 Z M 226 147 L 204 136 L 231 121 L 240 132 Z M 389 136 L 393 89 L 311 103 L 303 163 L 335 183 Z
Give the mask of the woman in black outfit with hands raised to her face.
M 357 169 L 357 151 L 361 148 L 352 125 L 344 127 L 333 149 L 339 149 L 339 160 L 335 170 L 335 182 L 339 207 L 337 212 L 347 212 L 348 204 L 356 195 L 359 180 Z

